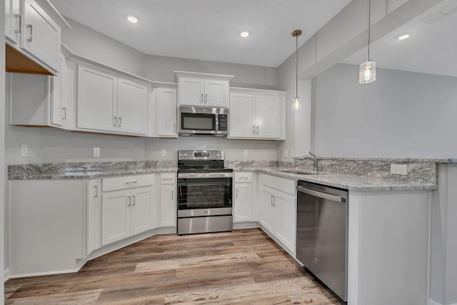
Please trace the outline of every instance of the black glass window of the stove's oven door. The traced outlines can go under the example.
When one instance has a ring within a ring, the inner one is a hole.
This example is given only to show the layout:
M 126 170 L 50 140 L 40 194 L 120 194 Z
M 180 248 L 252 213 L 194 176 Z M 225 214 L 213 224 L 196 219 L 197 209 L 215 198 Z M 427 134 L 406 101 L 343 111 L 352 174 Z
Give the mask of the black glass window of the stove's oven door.
M 178 181 L 179 209 L 231 207 L 231 178 L 189 178 Z

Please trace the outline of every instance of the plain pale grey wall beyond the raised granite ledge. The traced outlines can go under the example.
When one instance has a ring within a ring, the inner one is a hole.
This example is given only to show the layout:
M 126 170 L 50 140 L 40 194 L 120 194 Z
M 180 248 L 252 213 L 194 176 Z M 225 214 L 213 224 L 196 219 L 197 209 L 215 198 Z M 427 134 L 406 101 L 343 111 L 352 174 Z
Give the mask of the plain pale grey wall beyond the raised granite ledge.
M 313 145 L 318 156 L 456 157 L 457 78 L 377 69 L 358 84 L 358 66 L 316 76 Z

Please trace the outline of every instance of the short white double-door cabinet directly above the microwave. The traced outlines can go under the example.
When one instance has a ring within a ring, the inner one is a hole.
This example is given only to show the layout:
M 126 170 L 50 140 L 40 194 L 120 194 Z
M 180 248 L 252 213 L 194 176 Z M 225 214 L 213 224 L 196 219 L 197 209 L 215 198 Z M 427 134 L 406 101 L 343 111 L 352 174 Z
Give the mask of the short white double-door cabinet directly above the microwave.
M 228 107 L 231 75 L 174 71 L 178 78 L 179 105 Z

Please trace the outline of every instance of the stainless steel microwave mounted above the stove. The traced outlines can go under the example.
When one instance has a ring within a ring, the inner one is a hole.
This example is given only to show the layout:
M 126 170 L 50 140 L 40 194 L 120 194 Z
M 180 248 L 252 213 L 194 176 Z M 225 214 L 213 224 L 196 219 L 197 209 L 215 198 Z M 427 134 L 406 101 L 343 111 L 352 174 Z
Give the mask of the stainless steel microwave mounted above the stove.
M 179 106 L 179 135 L 226 136 L 229 134 L 229 109 Z

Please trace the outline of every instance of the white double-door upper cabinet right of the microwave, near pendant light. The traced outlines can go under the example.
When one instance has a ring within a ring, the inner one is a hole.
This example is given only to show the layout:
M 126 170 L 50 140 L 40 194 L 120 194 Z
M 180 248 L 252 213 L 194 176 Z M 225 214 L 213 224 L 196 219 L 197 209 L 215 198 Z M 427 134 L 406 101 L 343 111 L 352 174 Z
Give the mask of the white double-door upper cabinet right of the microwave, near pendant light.
M 285 92 L 233 89 L 230 94 L 231 139 L 284 139 Z

